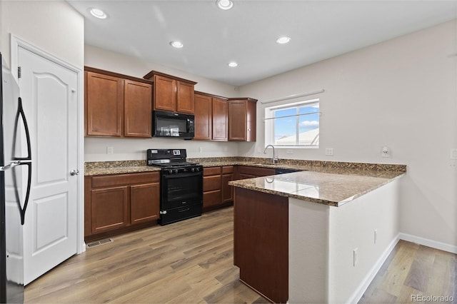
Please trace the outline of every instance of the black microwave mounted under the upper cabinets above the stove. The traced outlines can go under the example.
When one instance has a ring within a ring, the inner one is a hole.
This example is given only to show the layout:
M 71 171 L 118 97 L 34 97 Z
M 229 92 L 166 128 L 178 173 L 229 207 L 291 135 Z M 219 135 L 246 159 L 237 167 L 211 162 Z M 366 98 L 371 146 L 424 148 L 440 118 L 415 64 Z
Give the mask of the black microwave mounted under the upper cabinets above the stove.
M 195 117 L 191 114 L 152 111 L 153 136 L 194 138 Z

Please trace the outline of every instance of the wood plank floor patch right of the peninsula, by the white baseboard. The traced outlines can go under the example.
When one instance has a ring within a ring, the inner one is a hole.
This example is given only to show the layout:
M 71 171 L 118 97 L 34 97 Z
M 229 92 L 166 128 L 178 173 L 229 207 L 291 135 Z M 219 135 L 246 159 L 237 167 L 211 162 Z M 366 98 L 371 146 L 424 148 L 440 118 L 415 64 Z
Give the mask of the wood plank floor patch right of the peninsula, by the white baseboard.
M 457 258 L 400 240 L 359 303 L 418 302 L 457 303 Z

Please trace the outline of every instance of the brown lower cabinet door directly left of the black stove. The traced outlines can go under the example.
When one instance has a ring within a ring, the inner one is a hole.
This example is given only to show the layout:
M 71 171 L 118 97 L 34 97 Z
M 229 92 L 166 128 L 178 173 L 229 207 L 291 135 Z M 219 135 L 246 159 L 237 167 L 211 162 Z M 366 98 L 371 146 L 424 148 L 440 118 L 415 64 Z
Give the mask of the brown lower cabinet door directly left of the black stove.
M 160 186 L 148 183 L 130 187 L 131 224 L 159 219 Z

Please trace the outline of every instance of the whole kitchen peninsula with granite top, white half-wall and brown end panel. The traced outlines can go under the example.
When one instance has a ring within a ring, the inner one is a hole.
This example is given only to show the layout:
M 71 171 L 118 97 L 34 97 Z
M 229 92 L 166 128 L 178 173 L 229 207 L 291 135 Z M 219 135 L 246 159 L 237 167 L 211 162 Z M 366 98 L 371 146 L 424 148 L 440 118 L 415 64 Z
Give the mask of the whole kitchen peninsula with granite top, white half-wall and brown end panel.
M 274 303 L 358 300 L 398 240 L 405 173 L 311 167 L 231 181 L 240 280 Z

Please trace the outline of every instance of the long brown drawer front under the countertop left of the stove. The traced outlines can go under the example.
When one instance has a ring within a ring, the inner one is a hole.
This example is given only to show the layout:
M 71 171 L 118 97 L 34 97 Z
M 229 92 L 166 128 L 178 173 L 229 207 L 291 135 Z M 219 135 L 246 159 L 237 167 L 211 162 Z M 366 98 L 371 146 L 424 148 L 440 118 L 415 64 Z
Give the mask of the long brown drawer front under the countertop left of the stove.
M 159 183 L 159 172 L 126 173 L 92 177 L 92 188 L 133 185 L 136 183 Z

